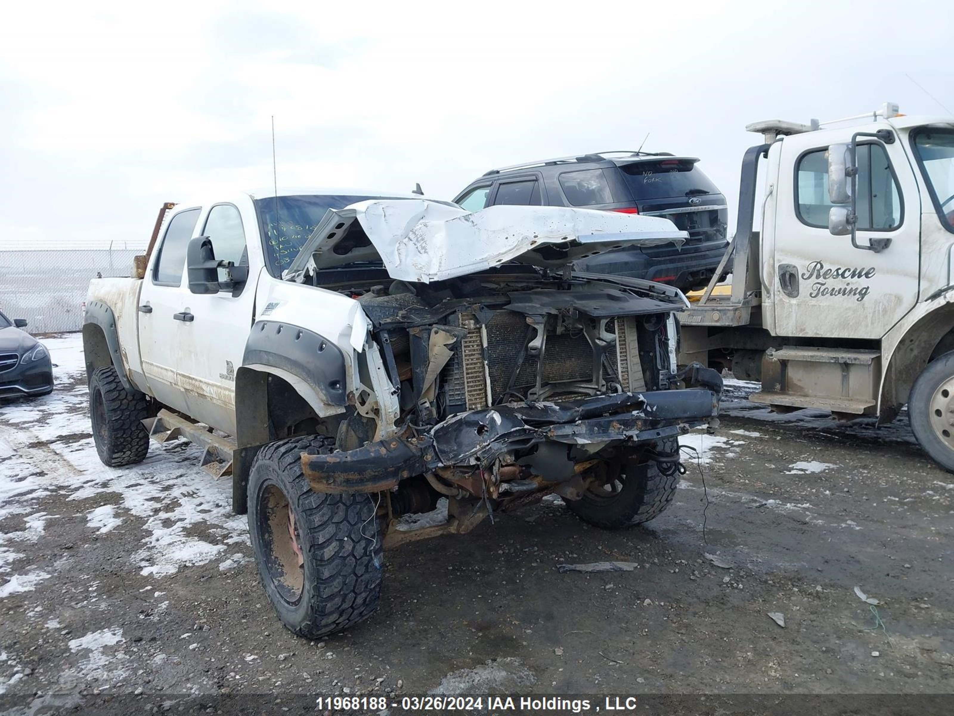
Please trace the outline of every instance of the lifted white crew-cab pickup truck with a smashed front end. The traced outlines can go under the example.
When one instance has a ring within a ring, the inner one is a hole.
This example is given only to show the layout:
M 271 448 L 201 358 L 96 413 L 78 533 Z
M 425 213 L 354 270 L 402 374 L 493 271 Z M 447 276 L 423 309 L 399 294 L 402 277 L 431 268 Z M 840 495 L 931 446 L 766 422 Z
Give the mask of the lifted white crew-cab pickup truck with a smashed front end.
M 213 199 L 167 205 L 138 278 L 91 284 L 93 435 L 110 466 L 144 459 L 150 436 L 204 446 L 297 634 L 374 611 L 385 543 L 554 492 L 602 527 L 651 519 L 674 494 L 677 435 L 716 422 L 718 374 L 676 371 L 685 298 L 569 268 L 682 241 L 670 221 L 345 191 Z M 397 529 L 441 497 L 444 524 Z

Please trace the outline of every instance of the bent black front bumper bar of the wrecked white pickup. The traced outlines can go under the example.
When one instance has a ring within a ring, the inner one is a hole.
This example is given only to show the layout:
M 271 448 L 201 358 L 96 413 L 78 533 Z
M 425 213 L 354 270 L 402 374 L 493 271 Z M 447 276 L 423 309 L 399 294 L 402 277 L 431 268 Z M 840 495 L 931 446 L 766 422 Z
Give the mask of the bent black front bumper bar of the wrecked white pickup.
M 672 437 L 718 414 L 718 373 L 693 366 L 683 375 L 697 387 L 508 403 L 454 415 L 414 438 L 392 437 L 346 452 L 302 453 L 301 467 L 318 492 L 371 493 L 439 467 L 489 463 L 542 442 L 636 444 Z

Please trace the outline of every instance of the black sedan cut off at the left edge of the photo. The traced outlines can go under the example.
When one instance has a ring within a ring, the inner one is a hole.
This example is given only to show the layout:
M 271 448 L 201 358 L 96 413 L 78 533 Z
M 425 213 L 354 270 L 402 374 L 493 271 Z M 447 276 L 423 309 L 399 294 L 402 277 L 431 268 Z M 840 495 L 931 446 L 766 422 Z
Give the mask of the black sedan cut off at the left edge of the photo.
M 0 311 L 0 398 L 46 395 L 53 390 L 50 351 L 29 333 L 22 318 Z

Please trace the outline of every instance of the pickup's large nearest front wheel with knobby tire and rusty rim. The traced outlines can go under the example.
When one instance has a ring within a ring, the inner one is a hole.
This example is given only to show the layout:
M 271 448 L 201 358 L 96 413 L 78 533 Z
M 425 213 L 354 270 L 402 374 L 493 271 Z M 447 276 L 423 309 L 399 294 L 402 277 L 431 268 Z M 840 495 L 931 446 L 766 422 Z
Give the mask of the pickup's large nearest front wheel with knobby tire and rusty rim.
M 327 439 L 296 437 L 259 451 L 248 480 L 248 527 L 279 619 L 299 636 L 317 639 L 378 608 L 384 536 L 373 495 L 311 489 L 301 472 L 308 448 L 327 448 Z

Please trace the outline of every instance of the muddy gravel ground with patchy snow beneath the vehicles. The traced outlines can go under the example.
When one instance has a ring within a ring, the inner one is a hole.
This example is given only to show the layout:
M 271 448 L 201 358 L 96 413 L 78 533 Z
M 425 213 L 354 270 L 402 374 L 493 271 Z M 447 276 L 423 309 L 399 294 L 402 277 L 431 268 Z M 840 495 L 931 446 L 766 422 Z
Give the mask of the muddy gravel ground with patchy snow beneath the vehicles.
M 954 475 L 903 420 L 778 416 L 730 381 L 673 506 L 609 533 L 545 502 L 388 554 L 380 611 L 307 642 L 259 586 L 230 485 L 185 444 L 96 458 L 80 337 L 0 406 L 0 693 L 945 693 Z M 637 563 L 632 572 L 557 565 Z M 861 600 L 856 587 L 879 600 Z M 784 627 L 769 616 L 782 615 Z M 37 696 L 38 695 L 38 696 Z M 38 699 L 38 700 L 37 700 Z

